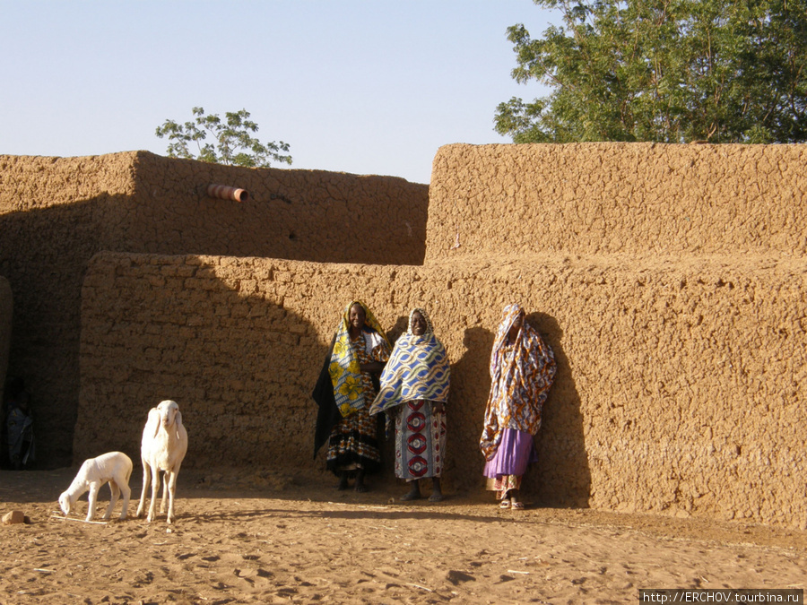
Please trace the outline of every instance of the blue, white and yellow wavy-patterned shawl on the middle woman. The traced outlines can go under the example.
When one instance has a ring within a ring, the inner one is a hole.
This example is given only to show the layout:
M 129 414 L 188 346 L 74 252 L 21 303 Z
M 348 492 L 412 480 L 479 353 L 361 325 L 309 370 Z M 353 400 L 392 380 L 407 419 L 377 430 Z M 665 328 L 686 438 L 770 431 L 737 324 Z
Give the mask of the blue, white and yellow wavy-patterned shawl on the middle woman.
M 426 332 L 412 333 L 412 315 L 423 315 Z M 381 373 L 381 388 L 369 413 L 377 414 L 403 402 L 447 402 L 450 367 L 442 342 L 434 334 L 429 315 L 421 308 L 409 314 L 409 327 L 395 342 L 395 349 Z

